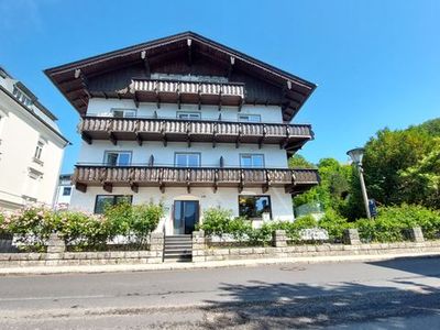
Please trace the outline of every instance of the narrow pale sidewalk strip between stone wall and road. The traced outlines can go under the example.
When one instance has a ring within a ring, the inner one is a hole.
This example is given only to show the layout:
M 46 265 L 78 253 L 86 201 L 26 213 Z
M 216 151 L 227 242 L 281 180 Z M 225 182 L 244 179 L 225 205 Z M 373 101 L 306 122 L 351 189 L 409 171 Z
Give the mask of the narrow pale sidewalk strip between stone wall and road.
M 0 276 L 7 275 L 48 275 L 70 273 L 117 273 L 117 272 L 145 272 L 145 271 L 178 271 L 220 267 L 246 267 L 273 264 L 312 264 L 312 263 L 344 263 L 344 262 L 372 262 L 403 257 L 440 257 L 440 252 L 416 252 L 382 255 L 332 255 L 332 256 L 298 256 L 257 260 L 233 260 L 212 262 L 175 262 L 162 264 L 119 264 L 119 265 L 86 265 L 86 266 L 38 266 L 38 267 L 4 267 L 0 268 Z

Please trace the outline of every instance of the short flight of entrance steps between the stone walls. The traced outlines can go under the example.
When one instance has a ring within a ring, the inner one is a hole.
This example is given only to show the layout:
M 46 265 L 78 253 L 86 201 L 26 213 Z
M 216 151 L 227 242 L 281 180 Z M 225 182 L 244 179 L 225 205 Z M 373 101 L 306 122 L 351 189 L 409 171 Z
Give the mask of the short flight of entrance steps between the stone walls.
M 165 237 L 164 262 L 190 262 L 191 257 L 191 235 Z

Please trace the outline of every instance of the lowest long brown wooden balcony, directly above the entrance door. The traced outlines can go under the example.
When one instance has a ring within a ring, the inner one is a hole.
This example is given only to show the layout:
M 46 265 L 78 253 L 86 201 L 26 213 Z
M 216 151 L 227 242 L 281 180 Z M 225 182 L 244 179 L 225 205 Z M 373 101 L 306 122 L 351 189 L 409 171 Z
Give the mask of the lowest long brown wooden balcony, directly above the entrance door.
M 100 186 L 108 193 L 113 187 L 261 187 L 266 193 L 270 187 L 284 187 L 286 193 L 298 194 L 319 183 L 316 169 L 288 168 L 233 168 L 233 167 L 163 167 L 163 166 L 105 166 L 77 165 L 73 184 L 82 193 L 88 186 Z

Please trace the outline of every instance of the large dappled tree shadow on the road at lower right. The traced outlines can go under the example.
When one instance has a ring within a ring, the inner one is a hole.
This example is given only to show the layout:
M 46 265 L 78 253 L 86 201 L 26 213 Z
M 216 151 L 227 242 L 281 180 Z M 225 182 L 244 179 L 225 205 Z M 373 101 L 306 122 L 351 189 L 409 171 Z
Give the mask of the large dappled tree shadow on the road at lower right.
M 220 289 L 221 301 L 206 301 L 210 317 L 204 328 L 340 328 L 387 318 L 392 324 L 386 329 L 405 329 L 405 318 L 440 316 L 440 289 L 427 285 L 415 292 L 356 283 L 322 287 L 250 280 L 246 285 L 223 283 Z

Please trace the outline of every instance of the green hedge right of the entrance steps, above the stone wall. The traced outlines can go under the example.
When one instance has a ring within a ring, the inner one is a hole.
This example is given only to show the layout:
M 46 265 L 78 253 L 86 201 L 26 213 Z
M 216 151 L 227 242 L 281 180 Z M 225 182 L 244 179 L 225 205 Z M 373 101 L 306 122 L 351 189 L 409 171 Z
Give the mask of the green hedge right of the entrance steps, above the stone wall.
M 233 237 L 239 242 L 253 245 L 266 244 L 272 233 L 282 229 L 293 242 L 299 241 L 302 229 L 321 228 L 328 231 L 330 242 L 342 242 L 343 233 L 349 228 L 358 228 L 364 242 L 397 242 L 408 239 L 408 230 L 420 227 L 427 240 L 440 239 L 440 212 L 420 206 L 403 205 L 378 209 L 377 218 L 360 219 L 349 222 L 336 211 L 329 210 L 317 221 L 311 216 L 300 217 L 293 222 L 271 221 L 253 229 L 252 222 L 244 218 L 233 218 L 231 210 L 211 208 L 204 213 L 204 223 L 199 229 L 207 237 Z

